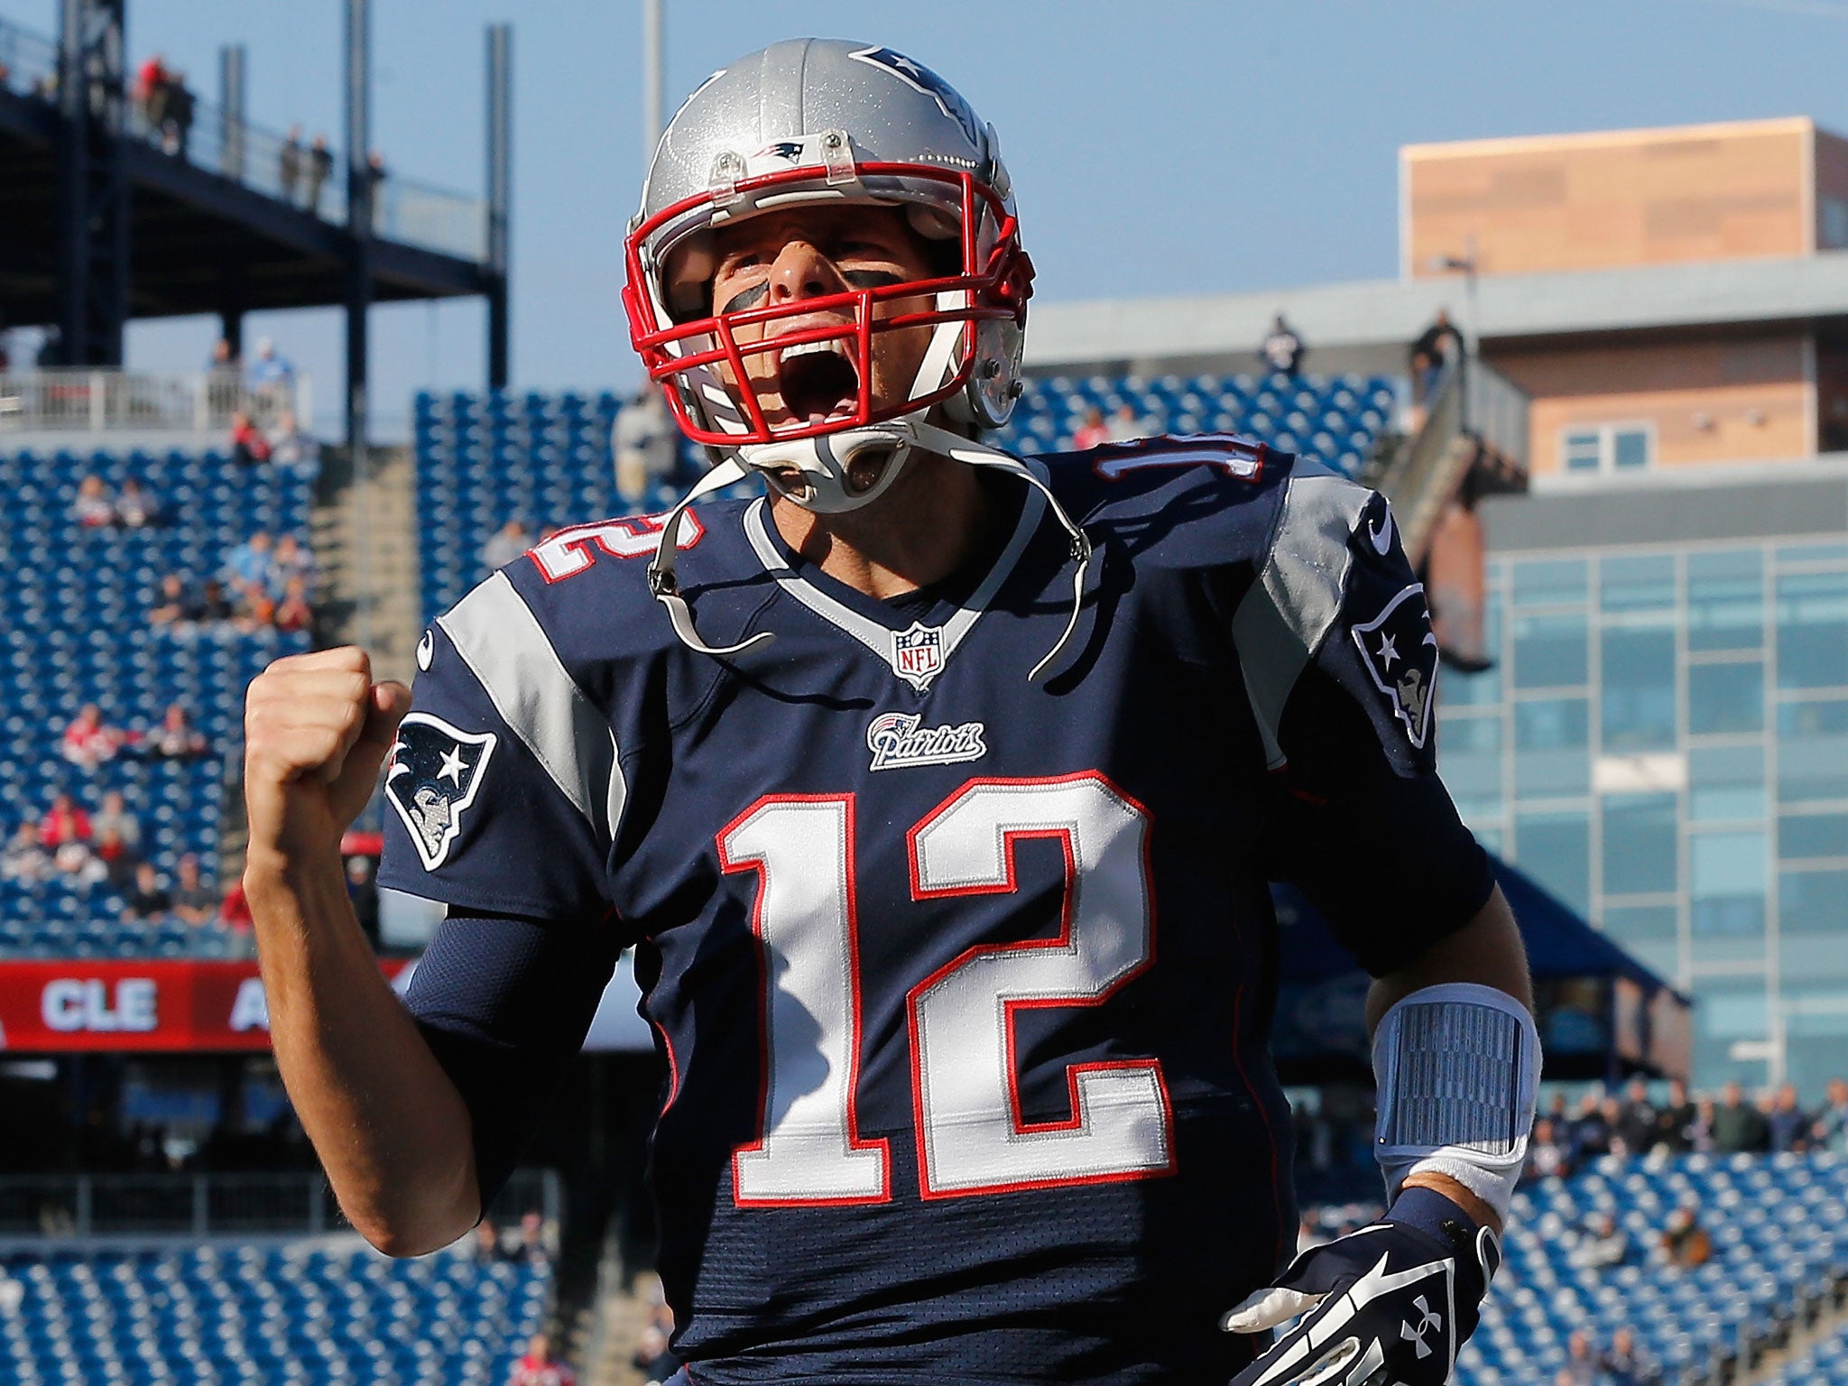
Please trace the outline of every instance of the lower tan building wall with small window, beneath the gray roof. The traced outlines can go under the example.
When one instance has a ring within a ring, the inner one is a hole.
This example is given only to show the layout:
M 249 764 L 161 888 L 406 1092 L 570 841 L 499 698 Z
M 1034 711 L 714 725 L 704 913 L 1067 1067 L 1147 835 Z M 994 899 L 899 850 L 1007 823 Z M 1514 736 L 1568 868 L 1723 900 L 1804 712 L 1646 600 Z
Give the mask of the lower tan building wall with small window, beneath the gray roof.
M 1717 342 L 1491 351 L 1528 392 L 1530 466 L 1563 469 L 1562 434 L 1597 423 L 1654 427 L 1654 466 L 1787 460 L 1811 451 L 1800 334 Z

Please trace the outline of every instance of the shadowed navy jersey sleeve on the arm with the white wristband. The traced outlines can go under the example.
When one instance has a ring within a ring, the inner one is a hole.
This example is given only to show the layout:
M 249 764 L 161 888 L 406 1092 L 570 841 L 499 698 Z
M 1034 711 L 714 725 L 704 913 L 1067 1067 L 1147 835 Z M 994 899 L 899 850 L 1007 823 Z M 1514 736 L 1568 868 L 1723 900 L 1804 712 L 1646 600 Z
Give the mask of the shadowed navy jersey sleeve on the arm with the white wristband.
M 1493 876 L 1438 778 L 1438 641 L 1386 499 L 1292 477 L 1233 634 L 1271 771 L 1271 874 L 1373 976 L 1414 961 Z

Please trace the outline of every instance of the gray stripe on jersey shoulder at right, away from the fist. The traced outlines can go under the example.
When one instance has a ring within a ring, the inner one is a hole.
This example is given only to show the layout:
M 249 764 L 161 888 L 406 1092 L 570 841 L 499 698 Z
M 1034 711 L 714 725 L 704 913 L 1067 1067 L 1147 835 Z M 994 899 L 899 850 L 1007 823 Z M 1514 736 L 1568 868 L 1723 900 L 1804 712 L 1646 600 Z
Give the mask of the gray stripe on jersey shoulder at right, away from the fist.
M 1246 693 L 1271 769 L 1284 760 L 1277 726 L 1290 689 L 1342 612 L 1353 562 L 1347 540 L 1371 497 L 1366 486 L 1325 468 L 1299 469 L 1284 490 L 1264 571 L 1233 614 Z

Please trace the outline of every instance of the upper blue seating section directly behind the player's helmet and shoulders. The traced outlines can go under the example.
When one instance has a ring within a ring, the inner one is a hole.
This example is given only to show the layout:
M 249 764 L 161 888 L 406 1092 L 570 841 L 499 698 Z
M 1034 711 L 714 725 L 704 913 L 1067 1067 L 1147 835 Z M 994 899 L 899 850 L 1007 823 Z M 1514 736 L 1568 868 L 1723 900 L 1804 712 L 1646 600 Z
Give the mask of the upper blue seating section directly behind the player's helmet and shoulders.
M 1098 408 L 1137 412 L 1140 432 L 1244 432 L 1356 475 L 1393 416 L 1395 388 L 1377 377 L 1092 375 L 1035 377 L 1002 447 L 1052 453 L 1070 447 Z M 508 519 L 532 529 L 623 514 L 610 458 L 614 394 L 419 394 L 414 408 L 418 554 L 423 617 L 453 606 L 486 569 L 482 545 Z M 700 455 L 643 501 L 663 510 L 697 475 Z

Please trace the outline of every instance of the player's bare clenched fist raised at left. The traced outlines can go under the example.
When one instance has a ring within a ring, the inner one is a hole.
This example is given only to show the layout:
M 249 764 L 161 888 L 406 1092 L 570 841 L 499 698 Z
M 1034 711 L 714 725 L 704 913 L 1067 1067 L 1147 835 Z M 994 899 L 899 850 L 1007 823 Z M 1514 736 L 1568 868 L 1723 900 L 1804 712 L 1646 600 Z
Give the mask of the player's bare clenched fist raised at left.
M 359 817 L 410 708 L 410 689 L 373 684 L 347 645 L 277 660 L 244 695 L 244 802 L 251 865 L 334 854 Z

